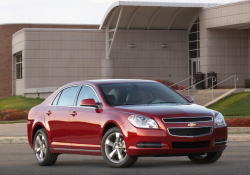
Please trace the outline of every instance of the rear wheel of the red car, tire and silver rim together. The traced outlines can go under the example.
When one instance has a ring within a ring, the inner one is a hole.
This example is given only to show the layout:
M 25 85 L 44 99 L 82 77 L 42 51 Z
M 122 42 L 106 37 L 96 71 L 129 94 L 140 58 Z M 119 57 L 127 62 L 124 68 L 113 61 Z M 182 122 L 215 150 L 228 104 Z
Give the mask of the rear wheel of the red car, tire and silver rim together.
M 37 163 L 40 166 L 49 166 L 56 163 L 58 154 L 50 152 L 49 141 L 44 129 L 39 129 L 33 139 L 33 150 Z

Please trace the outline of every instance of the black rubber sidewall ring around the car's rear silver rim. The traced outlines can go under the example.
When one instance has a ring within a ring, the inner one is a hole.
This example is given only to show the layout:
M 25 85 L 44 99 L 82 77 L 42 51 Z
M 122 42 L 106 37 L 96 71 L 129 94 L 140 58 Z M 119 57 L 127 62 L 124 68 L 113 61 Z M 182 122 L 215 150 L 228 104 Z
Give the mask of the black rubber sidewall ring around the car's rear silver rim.
M 37 159 L 37 157 L 36 157 L 35 141 L 36 141 L 36 137 L 37 137 L 38 134 L 42 134 L 42 135 L 44 136 L 44 139 L 45 139 L 46 153 L 45 153 L 45 158 L 43 159 L 42 162 L 40 162 L 40 161 Z M 39 129 L 39 130 L 36 132 L 36 134 L 35 134 L 35 136 L 34 136 L 34 138 L 33 138 L 33 150 L 34 150 L 34 154 L 35 154 L 35 158 L 36 158 L 37 163 L 38 163 L 39 165 L 44 165 L 45 162 L 48 161 L 48 159 L 49 159 L 49 154 L 50 154 L 49 142 L 48 142 L 47 134 L 46 134 L 46 132 L 45 132 L 44 129 Z

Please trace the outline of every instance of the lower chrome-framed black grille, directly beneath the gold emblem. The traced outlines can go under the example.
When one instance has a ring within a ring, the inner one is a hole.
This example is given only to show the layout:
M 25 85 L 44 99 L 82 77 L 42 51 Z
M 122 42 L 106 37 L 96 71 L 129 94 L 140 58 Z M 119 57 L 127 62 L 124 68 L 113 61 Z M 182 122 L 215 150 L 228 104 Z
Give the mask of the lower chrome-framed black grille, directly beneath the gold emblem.
M 198 137 L 211 134 L 213 127 L 201 127 L 201 128 L 168 128 L 169 134 L 172 136 L 183 137 Z

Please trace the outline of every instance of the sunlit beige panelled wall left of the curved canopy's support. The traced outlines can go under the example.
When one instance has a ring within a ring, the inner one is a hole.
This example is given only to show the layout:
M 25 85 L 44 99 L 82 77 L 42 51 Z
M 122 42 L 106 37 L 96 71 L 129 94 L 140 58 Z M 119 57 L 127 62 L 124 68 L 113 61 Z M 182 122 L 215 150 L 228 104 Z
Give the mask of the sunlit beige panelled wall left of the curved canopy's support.
M 101 78 L 102 30 L 24 29 L 24 88 Z

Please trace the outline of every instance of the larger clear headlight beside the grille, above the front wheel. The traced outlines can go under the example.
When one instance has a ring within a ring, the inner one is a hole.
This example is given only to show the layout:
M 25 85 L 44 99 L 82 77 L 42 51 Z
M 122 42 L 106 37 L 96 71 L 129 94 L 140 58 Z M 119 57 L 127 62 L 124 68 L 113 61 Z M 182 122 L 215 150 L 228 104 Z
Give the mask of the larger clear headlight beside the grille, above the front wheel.
M 128 117 L 128 120 L 132 125 L 138 128 L 153 128 L 153 129 L 159 128 L 156 121 L 148 117 L 131 115 Z

